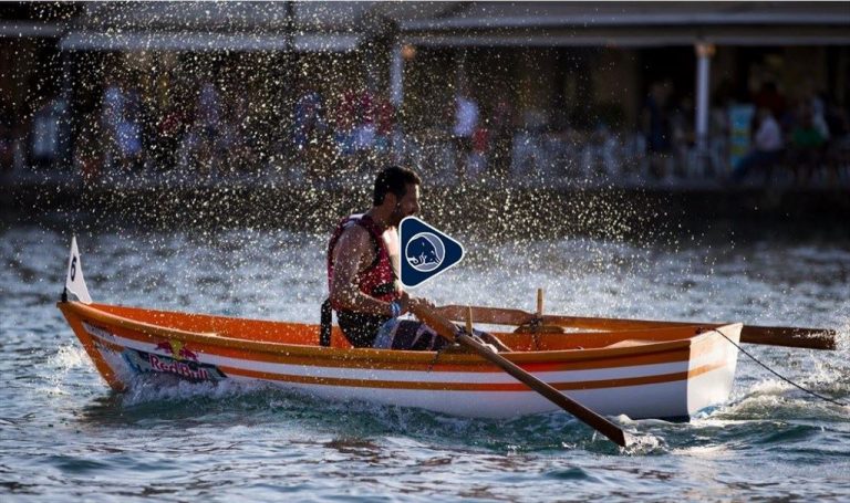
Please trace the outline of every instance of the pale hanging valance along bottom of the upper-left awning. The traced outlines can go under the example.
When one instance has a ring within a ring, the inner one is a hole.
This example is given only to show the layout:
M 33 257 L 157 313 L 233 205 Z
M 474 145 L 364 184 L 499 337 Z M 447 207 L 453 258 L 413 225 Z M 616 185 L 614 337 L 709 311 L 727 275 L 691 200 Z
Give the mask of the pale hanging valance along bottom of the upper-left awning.
M 363 36 L 357 33 L 298 33 L 292 44 L 298 52 L 355 51 Z M 60 41 L 63 51 L 230 51 L 288 50 L 283 34 L 215 32 L 91 32 L 68 33 Z

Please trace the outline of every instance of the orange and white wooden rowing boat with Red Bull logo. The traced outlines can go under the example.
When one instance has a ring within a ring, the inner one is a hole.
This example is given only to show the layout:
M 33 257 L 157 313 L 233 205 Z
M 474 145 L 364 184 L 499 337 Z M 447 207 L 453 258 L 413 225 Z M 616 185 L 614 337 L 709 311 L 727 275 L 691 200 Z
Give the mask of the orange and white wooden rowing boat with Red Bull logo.
M 448 415 L 509 418 L 557 407 L 463 350 L 351 348 L 339 327 L 92 303 L 72 243 L 58 304 L 95 367 L 116 390 L 139 375 L 190 381 L 260 381 L 333 400 L 366 400 Z M 723 404 L 735 376 L 742 325 L 609 332 L 494 333 L 507 359 L 601 415 L 687 418 Z M 728 340 L 727 340 L 728 338 Z M 168 379 L 165 379 L 166 381 Z

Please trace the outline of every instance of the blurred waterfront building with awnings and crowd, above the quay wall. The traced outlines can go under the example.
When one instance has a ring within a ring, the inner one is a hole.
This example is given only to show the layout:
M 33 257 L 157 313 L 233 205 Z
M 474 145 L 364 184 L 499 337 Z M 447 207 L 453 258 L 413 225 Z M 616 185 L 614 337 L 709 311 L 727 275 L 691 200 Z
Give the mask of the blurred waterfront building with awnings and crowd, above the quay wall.
M 3 3 L 2 180 L 346 187 L 394 161 L 846 190 L 848 27 L 847 2 Z

